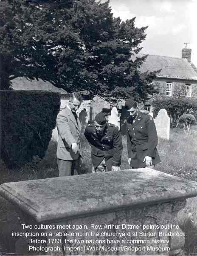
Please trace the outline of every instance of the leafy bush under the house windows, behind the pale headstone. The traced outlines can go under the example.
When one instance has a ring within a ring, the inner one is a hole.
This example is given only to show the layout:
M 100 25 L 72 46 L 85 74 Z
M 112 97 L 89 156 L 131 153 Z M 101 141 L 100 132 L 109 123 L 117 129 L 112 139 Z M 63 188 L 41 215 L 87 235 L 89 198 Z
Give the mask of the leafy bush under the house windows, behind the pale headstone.
M 180 97 L 180 98 L 166 98 L 166 99 L 156 99 L 153 104 L 153 114 L 154 117 L 157 116 L 161 108 L 165 108 L 172 126 L 178 126 L 180 116 L 186 113 L 194 113 L 197 111 L 197 100 Z

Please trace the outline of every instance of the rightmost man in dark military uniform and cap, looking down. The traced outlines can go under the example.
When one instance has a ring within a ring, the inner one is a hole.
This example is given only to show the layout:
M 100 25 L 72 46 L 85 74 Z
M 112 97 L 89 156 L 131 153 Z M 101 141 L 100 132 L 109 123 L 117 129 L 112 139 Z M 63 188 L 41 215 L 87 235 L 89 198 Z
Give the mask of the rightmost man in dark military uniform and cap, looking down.
M 157 151 L 158 136 L 154 120 L 149 114 L 138 111 L 133 99 L 125 101 L 129 117 L 125 121 L 128 163 L 132 168 L 155 168 L 160 162 Z

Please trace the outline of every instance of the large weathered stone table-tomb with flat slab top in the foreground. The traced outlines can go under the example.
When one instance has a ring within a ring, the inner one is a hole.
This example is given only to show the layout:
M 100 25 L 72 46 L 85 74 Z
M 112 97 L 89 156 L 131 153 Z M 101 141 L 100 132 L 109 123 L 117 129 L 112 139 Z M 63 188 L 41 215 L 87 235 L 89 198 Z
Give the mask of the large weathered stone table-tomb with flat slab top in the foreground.
M 160 248 L 160 253 L 169 255 L 169 250 L 171 253 L 180 250 L 184 237 L 169 238 L 164 233 L 172 231 L 171 224 L 177 225 L 175 217 L 177 211 L 185 207 L 186 198 L 197 195 L 197 183 L 143 168 L 108 172 L 104 175 L 88 174 L 4 183 L 0 186 L 0 195 L 24 213 L 26 223 L 29 221 L 56 227 L 57 224 L 70 224 L 69 229 L 45 229 L 48 233 L 53 232 L 53 236 L 47 238 L 48 246 L 50 239 L 62 241 L 56 245 L 58 252 L 45 250 L 48 255 L 157 254 L 158 249 L 155 248 Z M 78 231 L 82 232 L 82 236 L 72 228 L 73 225 L 81 224 L 84 224 L 84 228 Z M 91 227 L 91 224 L 95 226 Z M 109 226 L 104 228 L 105 224 Z M 131 230 L 129 224 L 138 228 Z M 144 230 L 143 225 L 152 227 Z M 66 231 L 67 235 L 57 236 L 54 231 Z M 181 233 L 181 230 L 175 231 Z M 127 236 L 120 238 L 118 233 L 109 235 L 102 232 L 127 232 Z M 133 236 L 129 232 L 133 232 Z M 140 236 L 139 232 L 145 233 Z M 93 241 L 91 248 L 87 247 L 88 235 Z M 102 244 L 98 244 L 96 239 L 102 241 Z M 72 243 L 69 242 L 71 240 Z M 108 243 L 112 240 L 120 240 L 120 243 Z M 147 244 L 133 244 L 134 240 L 146 241 Z M 130 241 L 130 244 L 126 243 L 128 250 L 108 249 L 117 246 L 123 248 L 123 241 Z M 157 244 L 155 241 L 163 243 Z M 150 246 L 152 249 L 147 251 Z M 29 253 L 32 253 L 31 250 Z

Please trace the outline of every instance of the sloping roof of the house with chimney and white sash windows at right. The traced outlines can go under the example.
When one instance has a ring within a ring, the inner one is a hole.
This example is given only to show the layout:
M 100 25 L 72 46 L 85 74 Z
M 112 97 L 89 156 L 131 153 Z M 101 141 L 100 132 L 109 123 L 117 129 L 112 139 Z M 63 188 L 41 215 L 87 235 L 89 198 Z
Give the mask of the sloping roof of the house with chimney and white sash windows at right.
M 145 54 L 138 54 L 142 57 Z M 160 55 L 148 55 L 140 70 L 156 71 L 160 70 L 157 77 L 197 80 L 197 73 L 186 58 L 174 58 Z

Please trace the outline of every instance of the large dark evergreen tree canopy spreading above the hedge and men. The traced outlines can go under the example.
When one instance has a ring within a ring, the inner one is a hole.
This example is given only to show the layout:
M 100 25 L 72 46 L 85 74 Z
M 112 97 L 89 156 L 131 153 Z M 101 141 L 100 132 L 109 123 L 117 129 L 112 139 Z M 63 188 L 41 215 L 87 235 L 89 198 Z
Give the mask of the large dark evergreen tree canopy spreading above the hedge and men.
M 23 76 L 68 92 L 146 100 L 155 73 L 141 73 L 147 27 L 113 17 L 109 1 L 1 0 L 0 88 Z

